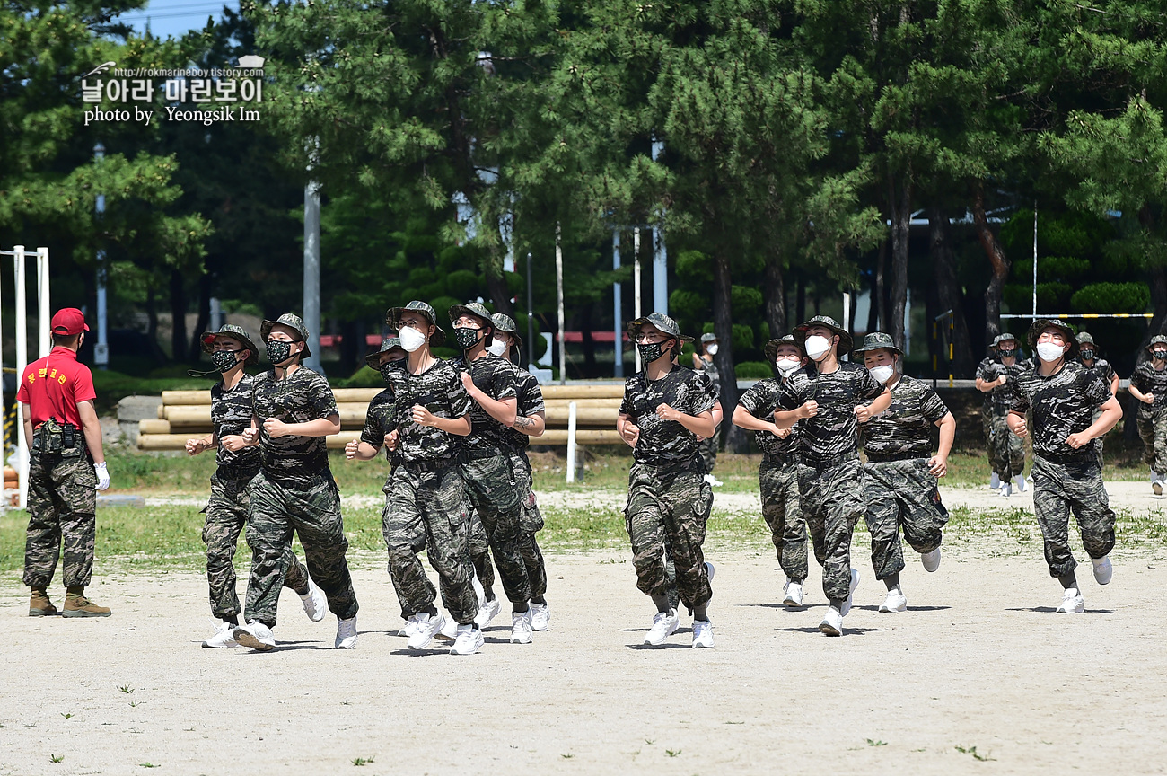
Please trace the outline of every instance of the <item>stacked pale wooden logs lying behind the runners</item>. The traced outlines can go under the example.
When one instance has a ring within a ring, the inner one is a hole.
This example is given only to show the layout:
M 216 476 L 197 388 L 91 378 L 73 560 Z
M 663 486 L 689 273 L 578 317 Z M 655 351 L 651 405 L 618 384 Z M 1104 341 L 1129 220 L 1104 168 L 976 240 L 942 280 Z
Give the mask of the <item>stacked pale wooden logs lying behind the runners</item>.
M 341 414 L 341 433 L 328 438 L 328 447 L 343 448 L 361 436 L 365 410 L 378 389 L 333 389 Z M 533 445 L 567 445 L 569 405 L 575 403 L 576 442 L 580 445 L 620 445 L 616 415 L 624 393 L 623 383 L 592 385 L 545 385 L 547 431 Z M 181 450 L 188 439 L 211 432 L 210 391 L 162 391 L 158 419 L 138 421 L 138 449 Z

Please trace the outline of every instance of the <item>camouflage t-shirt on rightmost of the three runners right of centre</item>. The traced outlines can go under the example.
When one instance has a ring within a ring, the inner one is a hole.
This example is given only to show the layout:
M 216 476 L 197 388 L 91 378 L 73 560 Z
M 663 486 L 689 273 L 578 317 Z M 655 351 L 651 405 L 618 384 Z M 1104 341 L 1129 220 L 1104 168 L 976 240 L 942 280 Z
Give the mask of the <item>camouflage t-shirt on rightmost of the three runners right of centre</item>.
M 932 452 L 931 429 L 948 414 L 948 407 L 927 383 L 903 375 L 892 386 L 892 406 L 859 427 L 859 439 L 868 455 Z

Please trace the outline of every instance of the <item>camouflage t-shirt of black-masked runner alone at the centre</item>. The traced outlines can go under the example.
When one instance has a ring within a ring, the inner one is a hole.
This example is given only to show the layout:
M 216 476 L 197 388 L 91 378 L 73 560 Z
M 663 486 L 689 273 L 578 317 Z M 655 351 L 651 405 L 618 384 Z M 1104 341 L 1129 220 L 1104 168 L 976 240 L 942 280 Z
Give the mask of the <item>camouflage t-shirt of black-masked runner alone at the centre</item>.
M 636 372 L 624 382 L 624 399 L 620 414 L 641 429 L 633 459 L 649 466 L 672 466 L 698 457 L 697 435 L 676 420 L 662 420 L 656 408 L 662 404 L 686 415 L 710 412 L 714 405 L 710 378 L 673 364 L 669 373 L 650 380 Z

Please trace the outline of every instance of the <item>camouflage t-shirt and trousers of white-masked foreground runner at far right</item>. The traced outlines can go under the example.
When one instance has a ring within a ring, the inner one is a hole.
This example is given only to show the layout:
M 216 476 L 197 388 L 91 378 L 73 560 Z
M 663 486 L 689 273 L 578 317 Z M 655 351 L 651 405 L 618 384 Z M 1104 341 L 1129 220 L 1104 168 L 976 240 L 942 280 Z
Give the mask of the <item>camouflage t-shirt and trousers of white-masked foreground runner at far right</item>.
M 1078 449 L 1065 442 L 1090 427 L 1093 411 L 1111 397 L 1110 386 L 1081 364 L 1067 362 L 1049 377 L 1036 370 L 1023 375 L 1013 394 L 1013 412 L 1033 412 L 1033 508 L 1046 540 L 1049 574 L 1064 576 L 1077 566 L 1069 544 L 1070 512 L 1091 558 L 1102 558 L 1114 546 L 1114 512 L 1102 482 L 1097 440 Z

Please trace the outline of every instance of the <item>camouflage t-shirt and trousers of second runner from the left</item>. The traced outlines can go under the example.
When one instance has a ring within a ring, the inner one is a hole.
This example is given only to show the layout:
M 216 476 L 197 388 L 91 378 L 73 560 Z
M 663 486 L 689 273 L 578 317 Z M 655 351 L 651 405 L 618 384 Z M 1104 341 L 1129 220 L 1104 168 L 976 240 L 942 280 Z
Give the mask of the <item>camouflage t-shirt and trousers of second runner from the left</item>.
M 303 545 L 308 573 L 328 599 L 329 610 L 340 620 L 351 620 L 358 606 L 344 559 L 349 540 L 324 438 L 272 438 L 263 426 L 267 418 L 299 424 L 337 414 L 333 390 L 328 380 L 307 366 L 281 380 L 275 379 L 272 369 L 256 377 L 251 403 L 259 424 L 263 462 L 251 481 L 247 510 L 251 578 L 245 617 L 268 628 L 275 624 L 295 533 Z

